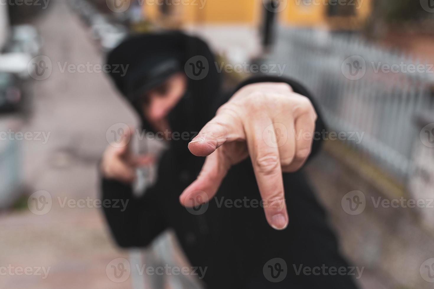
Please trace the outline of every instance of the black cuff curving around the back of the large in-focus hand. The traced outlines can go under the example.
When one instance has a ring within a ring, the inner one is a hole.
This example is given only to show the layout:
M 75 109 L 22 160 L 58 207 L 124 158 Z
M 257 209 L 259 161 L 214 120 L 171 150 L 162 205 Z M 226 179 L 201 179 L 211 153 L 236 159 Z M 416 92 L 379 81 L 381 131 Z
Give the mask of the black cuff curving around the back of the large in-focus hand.
M 316 101 L 312 97 L 312 94 L 310 94 L 309 91 L 304 86 L 302 86 L 297 81 L 294 81 L 292 79 L 285 78 L 285 77 L 277 77 L 277 76 L 260 76 L 260 77 L 252 77 L 247 79 L 246 81 L 243 81 L 237 86 L 237 88 L 233 91 L 233 93 L 230 96 L 232 96 L 235 92 L 240 90 L 240 88 L 242 88 L 243 86 L 247 84 L 258 83 L 258 82 L 285 82 L 293 88 L 293 91 L 295 93 L 306 96 L 312 102 L 316 114 L 318 115 L 315 124 L 314 140 L 312 143 L 312 153 L 309 156 L 309 159 L 312 159 L 312 157 L 315 156 L 316 153 L 318 153 L 321 148 L 322 138 L 320 136 L 322 136 L 322 133 L 325 130 L 325 124 L 322 119 L 321 109 L 316 104 Z

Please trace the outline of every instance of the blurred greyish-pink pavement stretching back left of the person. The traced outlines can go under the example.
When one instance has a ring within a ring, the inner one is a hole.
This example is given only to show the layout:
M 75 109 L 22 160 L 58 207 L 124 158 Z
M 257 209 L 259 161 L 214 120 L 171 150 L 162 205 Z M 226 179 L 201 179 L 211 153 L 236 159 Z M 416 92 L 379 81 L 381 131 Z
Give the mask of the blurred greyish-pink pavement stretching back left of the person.
M 30 192 L 49 192 L 53 207 L 40 216 L 27 208 L 0 214 L 0 266 L 51 268 L 46 279 L 7 273 L 0 276 L 0 288 L 131 288 L 131 278 L 114 283 L 105 273 L 111 260 L 127 254 L 115 248 L 101 209 L 61 206 L 65 198 L 97 198 L 96 163 L 107 145 L 105 132 L 114 123 L 135 120 L 104 74 L 61 72 L 65 62 L 99 64 L 102 55 L 66 1 L 49 4 L 37 27 L 53 72 L 32 84 L 33 114 L 22 128 L 50 132 L 49 140 L 20 145 L 26 185 Z

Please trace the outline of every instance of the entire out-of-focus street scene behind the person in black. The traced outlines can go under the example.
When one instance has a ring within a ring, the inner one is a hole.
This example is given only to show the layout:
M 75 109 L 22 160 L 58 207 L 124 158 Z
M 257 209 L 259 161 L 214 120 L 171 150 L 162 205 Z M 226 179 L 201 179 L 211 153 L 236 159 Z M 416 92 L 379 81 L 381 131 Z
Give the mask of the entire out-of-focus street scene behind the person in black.
M 242 67 L 227 90 L 260 65 L 304 84 L 329 126 L 304 169 L 361 288 L 433 288 L 433 28 L 432 0 L 0 0 L 0 288 L 201 288 L 134 270 L 186 260 L 171 232 L 119 250 L 98 205 L 109 128 L 138 124 L 101 65 L 160 29 Z

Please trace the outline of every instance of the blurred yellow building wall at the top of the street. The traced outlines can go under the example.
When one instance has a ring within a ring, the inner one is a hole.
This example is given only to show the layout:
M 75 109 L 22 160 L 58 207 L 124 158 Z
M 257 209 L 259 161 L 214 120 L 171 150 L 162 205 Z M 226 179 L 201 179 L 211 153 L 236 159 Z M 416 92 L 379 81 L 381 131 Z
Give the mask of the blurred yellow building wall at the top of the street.
M 264 10 L 263 0 L 202 0 L 206 1 L 203 7 L 201 0 L 187 1 L 189 3 L 196 3 L 197 5 L 174 6 L 174 17 L 181 24 L 244 23 L 256 25 L 260 23 Z M 307 0 L 308 3 L 315 3 L 310 5 L 303 4 L 303 0 L 286 1 L 286 9 L 280 12 L 278 17 L 280 23 L 291 26 L 314 27 L 329 25 L 333 27 L 336 26 L 336 23 L 338 26 L 339 23 L 345 26 L 346 22 L 362 23 L 372 10 L 372 0 L 353 0 L 352 3 L 355 5 L 361 3 L 359 9 L 355 10 L 355 16 L 329 17 L 327 15 L 329 7 L 324 3 L 337 0 Z M 145 6 L 144 10 L 148 19 L 151 21 L 158 19 L 161 16 L 159 8 L 160 6 L 158 5 Z

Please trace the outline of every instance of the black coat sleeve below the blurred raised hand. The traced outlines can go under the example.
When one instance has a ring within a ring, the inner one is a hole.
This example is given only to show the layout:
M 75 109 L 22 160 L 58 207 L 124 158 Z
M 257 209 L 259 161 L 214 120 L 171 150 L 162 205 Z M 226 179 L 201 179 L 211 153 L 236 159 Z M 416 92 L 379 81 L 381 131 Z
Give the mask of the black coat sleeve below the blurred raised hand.
M 167 222 L 155 187 L 136 197 L 132 185 L 102 178 L 101 191 L 105 218 L 120 247 L 146 247 L 166 229 Z M 104 202 L 117 202 L 118 205 L 108 206 Z

